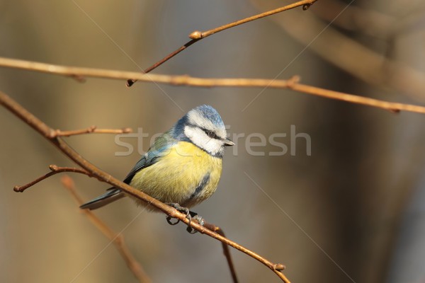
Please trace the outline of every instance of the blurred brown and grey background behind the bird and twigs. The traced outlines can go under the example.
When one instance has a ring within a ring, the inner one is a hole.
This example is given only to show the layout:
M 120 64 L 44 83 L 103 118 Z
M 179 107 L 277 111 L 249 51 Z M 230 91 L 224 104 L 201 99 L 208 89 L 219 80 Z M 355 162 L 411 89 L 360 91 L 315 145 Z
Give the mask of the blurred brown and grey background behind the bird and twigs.
M 0 56 L 78 67 L 140 71 L 188 41 L 193 30 L 278 8 L 290 1 L 0 1 Z M 157 74 L 288 79 L 400 103 L 425 104 L 425 2 L 319 0 L 212 35 Z M 0 69 L 1 91 L 50 125 L 169 129 L 208 103 L 229 126 L 215 195 L 196 209 L 227 236 L 286 265 L 292 282 L 424 282 L 424 115 L 353 105 L 287 90 L 191 88 L 73 79 Z M 291 126 L 296 132 L 291 132 Z M 0 281 L 136 282 L 108 239 L 84 216 L 60 175 L 73 166 L 28 125 L 0 109 Z M 265 145 L 247 148 L 250 134 Z M 288 147 L 286 154 L 276 155 Z M 283 134 L 286 134 L 285 136 Z M 311 154 L 307 147 L 311 141 Z M 296 137 L 296 139 L 295 139 Z M 138 146 L 135 138 L 123 141 Z M 295 140 L 295 143 L 291 142 Z M 117 178 L 140 154 L 112 134 L 66 139 Z M 252 151 L 261 153 L 252 154 Z M 291 154 L 293 152 L 293 154 Z M 108 185 L 72 175 L 89 200 Z M 140 213 L 131 200 L 96 211 L 122 231 L 153 282 L 231 282 L 220 243 L 162 214 Z M 240 282 L 279 282 L 232 250 Z

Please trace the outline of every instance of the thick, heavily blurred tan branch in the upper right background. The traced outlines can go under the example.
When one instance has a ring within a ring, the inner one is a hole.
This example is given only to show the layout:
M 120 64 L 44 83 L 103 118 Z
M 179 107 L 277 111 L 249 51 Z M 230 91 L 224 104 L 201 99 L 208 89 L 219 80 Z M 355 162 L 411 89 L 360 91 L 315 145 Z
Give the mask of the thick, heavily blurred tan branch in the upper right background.
M 268 5 L 264 1 L 253 3 L 258 8 L 267 8 Z M 320 57 L 352 76 L 374 86 L 424 98 L 423 72 L 370 50 L 310 13 L 304 13 L 302 21 L 299 21 L 299 16 L 297 13 L 288 13 L 285 17 L 272 18 L 272 21 Z M 334 20 L 337 18 L 334 17 Z M 297 25 L 293 24 L 295 22 Z

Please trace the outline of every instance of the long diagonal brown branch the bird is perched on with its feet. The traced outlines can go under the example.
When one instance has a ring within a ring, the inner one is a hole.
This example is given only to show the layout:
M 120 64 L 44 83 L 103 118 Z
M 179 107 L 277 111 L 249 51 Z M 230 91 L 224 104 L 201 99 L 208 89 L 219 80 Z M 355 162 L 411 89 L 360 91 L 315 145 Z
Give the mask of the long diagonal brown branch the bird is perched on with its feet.
M 267 260 L 266 258 L 263 258 L 261 255 L 254 253 L 253 251 L 247 248 L 244 248 L 243 246 L 239 245 L 234 241 L 229 240 L 228 238 L 225 238 L 224 236 L 221 236 L 219 233 L 216 233 L 215 231 L 211 231 L 210 229 L 201 226 L 200 224 L 196 223 L 196 221 L 189 221 L 189 219 L 186 218 L 186 214 L 179 212 L 174 207 L 170 207 L 169 205 L 159 202 L 159 200 L 156 200 L 153 197 L 146 195 L 140 190 L 136 190 L 130 185 L 121 182 L 117 178 L 114 178 L 112 175 L 109 175 L 108 173 L 102 171 L 100 168 L 97 168 L 93 164 L 89 163 L 89 161 L 80 156 L 77 151 L 74 151 L 74 149 L 72 149 L 72 147 L 69 146 L 61 137 L 51 137 L 50 133 L 53 131 L 52 128 L 47 126 L 44 122 L 39 120 L 32 113 L 28 112 L 28 110 L 16 103 L 15 100 L 7 96 L 5 93 L 2 93 L 1 91 L 0 105 L 3 105 L 4 108 L 12 112 L 13 115 L 16 115 L 16 117 L 20 118 L 21 120 L 23 120 L 23 122 L 26 122 L 26 124 L 35 129 L 36 132 L 38 132 L 43 137 L 45 137 L 45 139 L 50 141 L 54 146 L 57 147 L 57 149 L 62 151 L 64 155 L 68 156 L 72 161 L 74 161 L 74 163 L 77 163 L 77 165 L 87 171 L 92 177 L 97 178 L 101 182 L 108 183 L 113 187 L 117 187 L 120 190 L 123 190 L 123 192 L 126 192 L 128 195 L 132 195 L 133 197 L 137 197 L 138 199 L 148 204 L 152 204 L 154 207 L 157 207 L 157 209 L 162 210 L 162 212 L 164 212 L 171 218 L 179 219 L 188 226 L 191 226 L 196 231 L 207 234 L 208 236 L 215 238 L 228 246 L 232 246 L 232 248 L 235 248 L 241 251 L 242 253 L 245 253 L 246 255 L 249 255 L 251 258 L 258 260 L 263 265 L 266 265 L 266 267 L 270 268 L 283 282 L 290 282 L 281 272 L 281 267 L 283 267 L 283 265 L 279 263 L 275 264 Z

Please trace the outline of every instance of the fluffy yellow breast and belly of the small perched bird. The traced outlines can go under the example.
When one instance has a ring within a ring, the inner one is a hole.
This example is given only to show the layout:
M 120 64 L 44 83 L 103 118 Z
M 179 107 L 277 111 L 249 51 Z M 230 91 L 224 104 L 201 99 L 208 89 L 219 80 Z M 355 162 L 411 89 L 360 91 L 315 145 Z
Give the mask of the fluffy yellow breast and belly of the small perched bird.
M 137 172 L 130 185 L 161 202 L 192 207 L 215 192 L 221 172 L 222 158 L 180 141 L 157 163 Z M 144 202 L 140 204 L 145 206 Z

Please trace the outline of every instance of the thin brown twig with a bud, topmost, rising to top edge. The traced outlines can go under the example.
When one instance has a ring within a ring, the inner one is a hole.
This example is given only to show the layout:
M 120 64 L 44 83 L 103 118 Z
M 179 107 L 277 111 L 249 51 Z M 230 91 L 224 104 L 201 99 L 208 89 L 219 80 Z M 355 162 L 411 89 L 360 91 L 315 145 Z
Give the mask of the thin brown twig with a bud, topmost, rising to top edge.
M 248 17 L 248 18 L 243 18 L 242 20 L 239 21 L 234 21 L 232 23 L 227 23 L 227 25 L 221 25 L 218 28 L 212 28 L 211 30 L 205 30 L 203 32 L 199 31 L 199 30 L 195 30 L 193 31 L 193 33 L 191 33 L 189 35 L 189 37 L 191 38 L 190 41 L 186 42 L 185 45 L 182 45 L 181 47 L 179 47 L 177 50 L 174 50 L 173 52 L 171 52 L 170 54 L 166 55 L 166 57 L 162 58 L 161 60 L 159 60 L 158 62 L 156 62 L 155 64 L 153 64 L 151 67 L 143 70 L 143 74 L 147 74 L 149 73 L 149 71 L 152 71 L 153 69 L 156 69 L 157 67 L 161 66 L 164 62 L 168 61 L 169 59 L 171 59 L 172 57 L 176 56 L 176 54 L 179 54 L 180 52 L 182 52 L 183 50 L 185 50 L 187 47 L 193 45 L 193 43 L 198 42 L 199 40 L 202 40 L 205 37 L 208 37 L 210 35 L 213 35 L 214 33 L 219 33 L 222 30 L 227 30 L 229 28 L 234 28 L 237 25 L 242 25 L 244 23 L 248 23 L 250 21 L 255 21 L 258 20 L 259 18 L 264 18 L 267 16 L 271 16 L 274 15 L 276 13 L 280 13 L 283 11 L 287 11 L 290 10 L 292 8 L 296 8 L 296 7 L 300 7 L 302 6 L 303 10 L 307 10 L 307 8 L 309 8 L 310 6 L 312 6 L 312 4 L 314 4 L 314 2 L 317 0 L 302 0 L 302 1 L 297 1 L 293 4 L 289 4 L 280 8 L 276 8 L 273 9 L 271 11 L 267 11 L 264 13 L 259 13 L 257 15 Z M 135 82 L 137 81 L 137 79 L 129 79 L 127 81 L 127 86 L 132 86 Z

